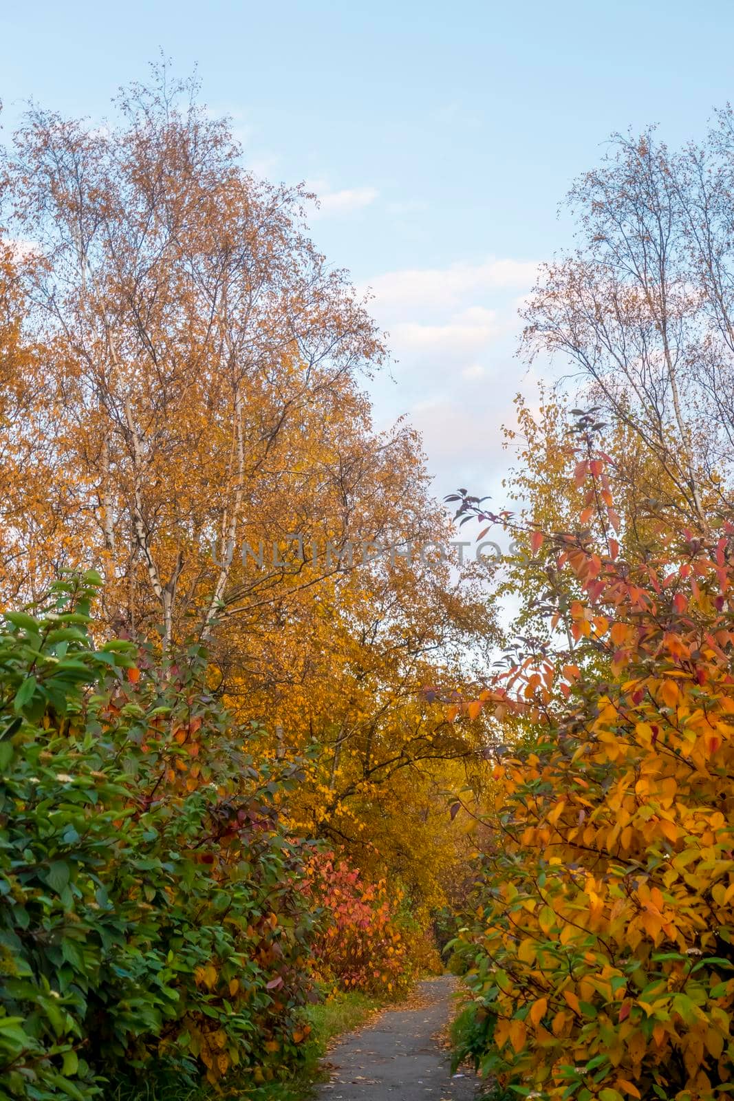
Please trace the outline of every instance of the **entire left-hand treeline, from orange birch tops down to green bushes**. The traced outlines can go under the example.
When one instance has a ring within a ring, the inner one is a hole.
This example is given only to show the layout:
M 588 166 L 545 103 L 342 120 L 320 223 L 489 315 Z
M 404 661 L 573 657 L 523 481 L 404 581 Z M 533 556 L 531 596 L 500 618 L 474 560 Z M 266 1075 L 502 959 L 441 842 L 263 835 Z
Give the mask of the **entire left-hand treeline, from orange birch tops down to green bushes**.
M 309 998 L 435 966 L 485 768 L 432 702 L 491 644 L 480 567 L 338 555 L 450 534 L 372 427 L 382 336 L 196 91 L 33 109 L 1 164 L 9 1097 L 287 1073 Z

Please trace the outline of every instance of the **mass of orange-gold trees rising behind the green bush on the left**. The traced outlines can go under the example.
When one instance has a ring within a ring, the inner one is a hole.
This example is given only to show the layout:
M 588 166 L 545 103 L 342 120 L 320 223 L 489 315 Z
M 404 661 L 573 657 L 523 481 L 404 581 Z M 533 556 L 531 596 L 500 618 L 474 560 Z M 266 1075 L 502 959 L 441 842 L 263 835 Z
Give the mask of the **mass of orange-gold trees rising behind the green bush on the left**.
M 34 108 L 8 156 L 32 401 L 7 432 L 43 440 L 46 471 L 6 596 L 95 566 L 108 630 L 168 659 L 207 642 L 263 759 L 318 746 L 294 821 L 435 901 L 439 773 L 475 771 L 482 731 L 423 691 L 456 685 L 491 615 L 471 568 L 405 557 L 451 532 L 416 434 L 373 429 L 382 336 L 310 241 L 308 195 L 244 171 L 195 94 L 162 69 L 119 123 Z

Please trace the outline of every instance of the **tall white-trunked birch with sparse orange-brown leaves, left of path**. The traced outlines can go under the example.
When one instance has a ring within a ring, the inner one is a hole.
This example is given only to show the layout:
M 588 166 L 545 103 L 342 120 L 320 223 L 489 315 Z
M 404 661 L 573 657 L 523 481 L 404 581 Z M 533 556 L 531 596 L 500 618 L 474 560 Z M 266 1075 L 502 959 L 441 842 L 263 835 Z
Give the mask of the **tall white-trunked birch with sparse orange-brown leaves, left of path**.
M 110 131 L 32 111 L 10 163 L 39 416 L 74 470 L 79 553 L 99 548 L 116 611 L 162 622 L 166 643 L 178 613 L 206 633 L 235 599 L 251 487 L 284 426 L 328 417 L 340 379 L 382 356 L 299 226 L 305 193 L 243 172 L 184 91 L 158 73 Z

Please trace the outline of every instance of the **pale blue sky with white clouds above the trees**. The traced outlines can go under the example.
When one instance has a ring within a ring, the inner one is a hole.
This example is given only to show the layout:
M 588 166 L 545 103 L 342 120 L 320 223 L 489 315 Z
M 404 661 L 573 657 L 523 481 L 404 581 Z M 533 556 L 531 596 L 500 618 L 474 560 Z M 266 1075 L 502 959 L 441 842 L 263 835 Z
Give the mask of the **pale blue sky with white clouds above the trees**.
M 375 292 L 394 382 L 438 494 L 496 492 L 500 425 L 534 381 L 512 352 L 535 264 L 571 243 L 557 207 L 610 132 L 702 135 L 734 98 L 734 6 L 67 0 L 0 6 L 4 128 L 34 97 L 99 118 L 158 47 L 230 113 L 245 161 L 322 197 L 333 263 Z

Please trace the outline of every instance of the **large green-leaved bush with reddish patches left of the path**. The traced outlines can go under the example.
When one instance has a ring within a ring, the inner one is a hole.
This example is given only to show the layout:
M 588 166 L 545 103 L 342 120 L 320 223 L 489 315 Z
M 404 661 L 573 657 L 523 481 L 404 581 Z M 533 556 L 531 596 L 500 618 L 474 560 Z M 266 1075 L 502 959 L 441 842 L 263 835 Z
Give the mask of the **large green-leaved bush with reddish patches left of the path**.
M 109 1093 L 156 1066 L 254 1081 L 297 1060 L 306 847 L 206 684 L 206 654 L 96 647 L 99 578 L 0 631 L 0 1086 Z

